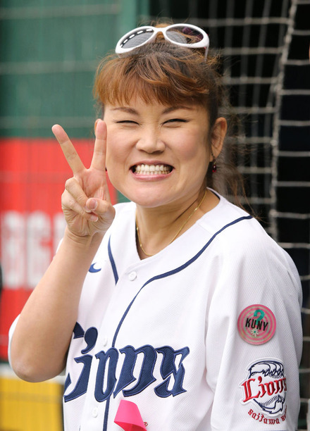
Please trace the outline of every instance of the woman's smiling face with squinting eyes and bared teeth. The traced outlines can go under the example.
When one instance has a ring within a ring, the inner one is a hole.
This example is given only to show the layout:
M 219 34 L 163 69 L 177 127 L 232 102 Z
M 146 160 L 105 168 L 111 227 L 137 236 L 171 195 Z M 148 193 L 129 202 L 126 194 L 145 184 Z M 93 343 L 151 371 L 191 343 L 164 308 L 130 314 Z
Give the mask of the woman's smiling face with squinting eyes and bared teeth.
M 104 120 L 106 168 L 124 196 L 148 208 L 195 199 L 213 158 L 202 106 L 135 99 L 125 106 L 105 106 Z

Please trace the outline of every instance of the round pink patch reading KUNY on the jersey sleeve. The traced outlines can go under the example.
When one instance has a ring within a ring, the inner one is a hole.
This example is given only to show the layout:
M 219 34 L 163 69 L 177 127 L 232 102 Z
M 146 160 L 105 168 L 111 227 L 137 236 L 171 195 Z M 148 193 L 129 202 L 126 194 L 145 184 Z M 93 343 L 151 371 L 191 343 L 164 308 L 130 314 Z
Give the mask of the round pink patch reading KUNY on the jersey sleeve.
M 275 315 L 261 304 L 254 304 L 240 313 L 238 318 L 240 337 L 249 344 L 263 344 L 275 334 Z

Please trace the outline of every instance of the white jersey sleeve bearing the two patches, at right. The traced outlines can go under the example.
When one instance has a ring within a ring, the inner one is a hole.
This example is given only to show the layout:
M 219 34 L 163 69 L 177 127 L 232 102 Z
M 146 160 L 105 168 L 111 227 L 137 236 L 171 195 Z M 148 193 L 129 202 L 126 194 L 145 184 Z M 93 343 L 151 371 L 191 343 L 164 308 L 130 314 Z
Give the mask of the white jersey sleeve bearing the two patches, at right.
M 223 246 L 206 327 L 211 429 L 296 430 L 302 353 L 297 270 L 268 235 Z

